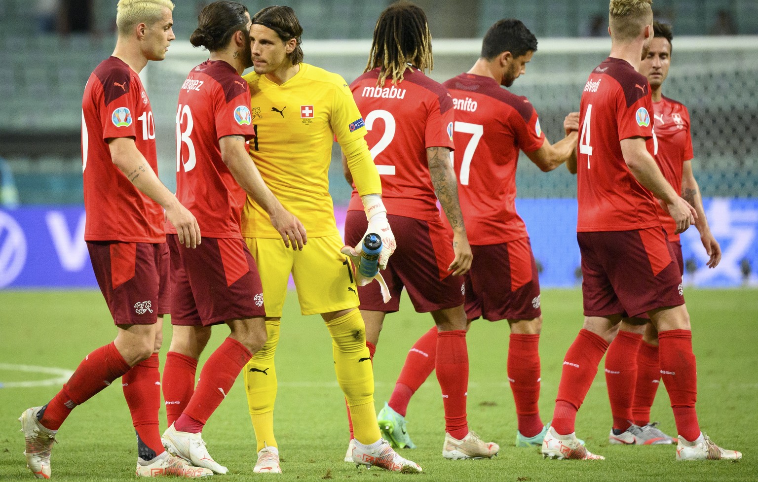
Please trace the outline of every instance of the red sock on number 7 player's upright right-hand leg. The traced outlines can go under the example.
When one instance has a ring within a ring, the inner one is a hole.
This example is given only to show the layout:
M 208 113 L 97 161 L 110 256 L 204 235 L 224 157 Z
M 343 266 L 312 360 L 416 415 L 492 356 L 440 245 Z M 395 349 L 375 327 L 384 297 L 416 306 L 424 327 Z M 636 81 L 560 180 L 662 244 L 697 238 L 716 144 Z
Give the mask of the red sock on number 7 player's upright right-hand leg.
M 518 431 L 534 437 L 543 429 L 540 419 L 540 335 L 511 334 L 508 346 L 508 380 L 516 405 Z

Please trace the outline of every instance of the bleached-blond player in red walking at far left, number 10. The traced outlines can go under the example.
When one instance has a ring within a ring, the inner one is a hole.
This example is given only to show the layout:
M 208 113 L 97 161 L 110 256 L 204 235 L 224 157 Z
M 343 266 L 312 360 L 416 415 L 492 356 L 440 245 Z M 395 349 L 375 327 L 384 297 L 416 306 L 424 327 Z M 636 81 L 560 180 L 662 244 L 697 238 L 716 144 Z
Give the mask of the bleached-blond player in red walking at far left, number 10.
M 158 180 L 155 125 L 139 71 L 161 61 L 174 40 L 168 0 L 117 5 L 118 38 L 110 58 L 89 76 L 82 101 L 84 239 L 92 268 L 118 328 L 115 340 L 89 353 L 61 391 L 20 417 L 27 465 L 50 477 L 50 449 L 70 412 L 123 376 L 137 434 L 136 474 L 211 474 L 165 452 L 158 431 L 158 350 L 165 313 L 164 212 L 187 247 L 200 243 L 192 213 Z

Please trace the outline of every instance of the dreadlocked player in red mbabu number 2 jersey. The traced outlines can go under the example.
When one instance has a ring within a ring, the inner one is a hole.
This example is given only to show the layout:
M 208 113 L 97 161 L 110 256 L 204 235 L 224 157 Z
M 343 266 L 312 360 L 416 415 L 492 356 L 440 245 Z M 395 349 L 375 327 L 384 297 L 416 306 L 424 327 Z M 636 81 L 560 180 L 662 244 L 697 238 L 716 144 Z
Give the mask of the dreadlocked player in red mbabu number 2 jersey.
M 468 353 L 461 275 L 471 266 L 471 247 L 449 161 L 453 100 L 443 86 L 424 75 L 431 67 L 431 35 L 424 11 L 409 3 L 384 10 L 374 29 L 366 71 L 350 89 L 365 116 L 366 141 L 372 146 L 387 218 L 398 241 L 392 263 L 384 271 L 392 299 L 384 303 L 379 285 L 371 283 L 358 288 L 360 309 L 371 353 L 384 316 L 399 309 L 403 286 L 416 311 L 431 312 L 438 331 L 434 368 L 445 409 L 443 457 L 492 457 L 500 447 L 469 431 L 466 418 Z M 437 200 L 452 233 L 440 219 Z M 346 244 L 362 243 L 366 225 L 361 200 L 353 190 L 345 222 Z M 393 446 L 412 447 L 404 434 L 404 421 L 393 415 L 387 406 L 379 413 L 383 434 Z M 402 426 L 395 426 L 395 421 Z

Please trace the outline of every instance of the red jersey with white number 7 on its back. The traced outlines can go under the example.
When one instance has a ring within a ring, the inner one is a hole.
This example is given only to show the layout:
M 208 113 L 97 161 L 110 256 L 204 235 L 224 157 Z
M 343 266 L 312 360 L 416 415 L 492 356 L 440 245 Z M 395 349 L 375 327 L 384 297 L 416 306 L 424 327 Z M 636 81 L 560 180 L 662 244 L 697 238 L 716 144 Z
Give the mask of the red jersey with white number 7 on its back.
M 518 151 L 537 151 L 545 136 L 527 98 L 495 79 L 462 73 L 443 83 L 453 96 L 453 155 L 458 194 L 471 244 L 500 244 L 528 236 L 516 213 Z

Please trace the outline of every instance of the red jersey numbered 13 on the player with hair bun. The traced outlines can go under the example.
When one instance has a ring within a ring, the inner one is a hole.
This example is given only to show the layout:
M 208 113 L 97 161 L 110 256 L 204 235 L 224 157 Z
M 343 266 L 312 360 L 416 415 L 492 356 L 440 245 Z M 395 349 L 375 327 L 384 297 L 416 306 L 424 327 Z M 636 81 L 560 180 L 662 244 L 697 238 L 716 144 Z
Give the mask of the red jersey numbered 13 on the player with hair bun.
M 250 90 L 234 67 L 205 61 L 189 72 L 177 109 L 177 198 L 209 238 L 242 238 L 245 191 L 221 160 L 218 140 L 255 137 Z M 252 161 L 251 161 L 252 162 Z M 169 226 L 168 232 L 176 232 Z

